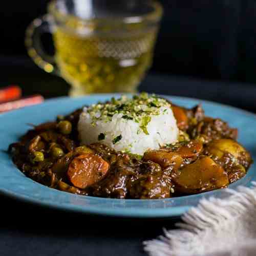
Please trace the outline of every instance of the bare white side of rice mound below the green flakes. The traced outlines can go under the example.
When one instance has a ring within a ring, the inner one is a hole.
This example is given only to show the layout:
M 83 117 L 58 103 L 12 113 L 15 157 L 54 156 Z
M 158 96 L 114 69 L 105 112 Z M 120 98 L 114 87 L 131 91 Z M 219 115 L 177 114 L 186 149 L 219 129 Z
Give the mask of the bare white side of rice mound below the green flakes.
M 170 106 L 161 106 L 159 115 L 150 115 L 151 121 L 147 123 L 148 135 L 140 129 L 140 123 L 123 119 L 123 114 L 115 114 L 111 121 L 106 119 L 93 123 L 87 110 L 88 108 L 83 109 L 78 122 L 82 145 L 100 142 L 115 151 L 143 155 L 149 149 L 158 150 L 160 146 L 175 143 L 178 140 L 179 130 Z M 101 133 L 105 138 L 99 141 L 98 136 Z M 122 138 L 113 144 L 113 139 L 120 135 Z

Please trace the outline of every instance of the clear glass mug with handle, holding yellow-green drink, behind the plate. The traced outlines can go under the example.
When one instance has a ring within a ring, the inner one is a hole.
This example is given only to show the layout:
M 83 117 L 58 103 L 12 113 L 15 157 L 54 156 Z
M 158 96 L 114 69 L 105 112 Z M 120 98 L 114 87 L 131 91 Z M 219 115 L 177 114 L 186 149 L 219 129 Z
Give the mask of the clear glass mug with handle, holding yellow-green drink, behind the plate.
M 71 84 L 70 96 L 134 93 L 151 66 L 161 17 L 153 0 L 54 0 L 27 28 L 25 43 L 40 68 Z M 54 56 L 41 44 L 49 32 Z

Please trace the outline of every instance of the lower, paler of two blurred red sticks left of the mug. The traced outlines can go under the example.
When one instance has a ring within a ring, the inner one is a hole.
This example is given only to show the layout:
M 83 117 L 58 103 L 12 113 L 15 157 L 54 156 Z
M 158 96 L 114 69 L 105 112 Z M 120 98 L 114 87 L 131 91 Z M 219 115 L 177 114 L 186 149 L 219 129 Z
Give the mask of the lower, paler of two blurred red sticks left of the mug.
M 44 101 L 44 97 L 42 97 L 41 95 L 32 95 L 22 99 L 1 103 L 0 113 L 23 108 L 24 106 L 35 105 L 35 104 L 41 103 L 42 101 Z

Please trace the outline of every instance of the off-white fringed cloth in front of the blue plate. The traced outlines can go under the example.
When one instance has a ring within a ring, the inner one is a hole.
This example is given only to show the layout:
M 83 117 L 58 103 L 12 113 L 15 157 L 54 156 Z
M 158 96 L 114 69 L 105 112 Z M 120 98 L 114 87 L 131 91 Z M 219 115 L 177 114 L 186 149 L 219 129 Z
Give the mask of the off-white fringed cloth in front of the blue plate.
M 256 182 L 226 189 L 225 199 L 202 199 L 182 216 L 179 229 L 144 242 L 150 256 L 255 256 Z

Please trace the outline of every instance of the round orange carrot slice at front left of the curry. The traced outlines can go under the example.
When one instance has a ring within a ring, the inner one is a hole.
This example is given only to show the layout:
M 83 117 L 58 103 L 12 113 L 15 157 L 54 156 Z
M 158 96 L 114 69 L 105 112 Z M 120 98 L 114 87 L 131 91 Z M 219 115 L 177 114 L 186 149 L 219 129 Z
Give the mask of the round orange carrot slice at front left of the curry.
M 93 153 L 75 157 L 69 165 L 68 177 L 78 188 L 86 188 L 100 181 L 109 170 L 109 163 Z

